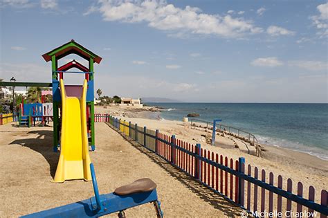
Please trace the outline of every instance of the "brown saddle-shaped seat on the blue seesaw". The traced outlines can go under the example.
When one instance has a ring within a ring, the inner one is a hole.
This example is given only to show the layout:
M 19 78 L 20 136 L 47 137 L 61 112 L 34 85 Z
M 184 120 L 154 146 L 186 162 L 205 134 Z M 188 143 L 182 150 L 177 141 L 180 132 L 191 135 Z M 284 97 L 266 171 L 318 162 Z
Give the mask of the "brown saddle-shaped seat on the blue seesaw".
M 114 191 L 118 195 L 127 195 L 137 192 L 150 192 L 156 188 L 156 183 L 149 178 L 138 179 L 129 185 L 123 185 Z

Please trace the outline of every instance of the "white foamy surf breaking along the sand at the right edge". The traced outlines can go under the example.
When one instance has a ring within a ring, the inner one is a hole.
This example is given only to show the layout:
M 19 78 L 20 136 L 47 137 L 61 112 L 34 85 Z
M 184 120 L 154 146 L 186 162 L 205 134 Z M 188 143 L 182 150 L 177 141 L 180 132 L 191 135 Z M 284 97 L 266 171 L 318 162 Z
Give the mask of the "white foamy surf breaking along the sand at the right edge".
M 256 136 L 259 143 L 263 145 L 273 145 L 275 147 L 282 147 L 286 149 L 291 149 L 296 152 L 302 152 L 316 156 L 322 160 L 328 161 L 328 151 L 321 149 L 319 147 L 313 147 L 311 145 L 304 145 L 300 142 L 292 142 L 290 140 L 282 138 L 271 138 L 267 136 Z

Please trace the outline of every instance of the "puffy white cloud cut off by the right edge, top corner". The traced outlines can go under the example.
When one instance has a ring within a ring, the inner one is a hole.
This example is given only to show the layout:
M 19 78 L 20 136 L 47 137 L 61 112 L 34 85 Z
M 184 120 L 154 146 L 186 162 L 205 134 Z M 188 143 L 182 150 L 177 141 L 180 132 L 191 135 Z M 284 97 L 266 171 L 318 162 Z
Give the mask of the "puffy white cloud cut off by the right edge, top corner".
M 320 37 L 328 36 L 328 3 L 317 6 L 317 10 L 320 12 L 319 15 L 312 16 L 313 24 L 318 28 L 318 35 Z

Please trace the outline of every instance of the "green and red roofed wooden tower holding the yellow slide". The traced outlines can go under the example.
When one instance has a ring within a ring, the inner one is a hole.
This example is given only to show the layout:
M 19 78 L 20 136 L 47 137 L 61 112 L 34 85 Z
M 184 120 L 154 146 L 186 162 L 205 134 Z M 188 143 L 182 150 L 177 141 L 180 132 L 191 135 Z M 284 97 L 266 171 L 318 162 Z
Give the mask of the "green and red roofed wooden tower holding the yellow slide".
M 58 60 L 70 54 L 76 54 L 89 62 L 89 67 L 83 66 L 79 62 L 72 60 L 62 66 L 58 66 Z M 100 64 L 102 58 L 95 53 L 84 48 L 82 45 L 76 43 L 73 39 L 71 42 L 63 44 L 48 53 L 42 55 L 46 62 L 51 61 L 52 71 L 52 88 L 53 88 L 53 149 L 55 152 L 60 148 L 60 107 L 62 107 L 62 98 L 60 94 L 60 80 L 64 80 L 66 73 L 80 73 L 84 74 L 87 83 L 86 89 L 86 128 L 89 138 L 89 146 L 91 151 L 95 150 L 95 127 L 94 127 L 94 87 L 93 87 L 93 64 Z M 80 71 L 69 71 L 69 69 L 79 69 Z M 81 96 L 82 86 L 69 85 L 65 86 L 68 97 Z

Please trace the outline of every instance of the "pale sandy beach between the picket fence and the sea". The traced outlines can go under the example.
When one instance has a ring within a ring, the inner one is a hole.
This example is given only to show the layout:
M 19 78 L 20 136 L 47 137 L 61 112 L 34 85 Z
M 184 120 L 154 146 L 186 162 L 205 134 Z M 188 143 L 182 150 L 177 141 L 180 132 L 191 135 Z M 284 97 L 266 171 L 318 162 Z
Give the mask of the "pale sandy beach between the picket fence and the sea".
M 138 126 L 147 126 L 148 129 L 154 130 L 158 129 L 167 135 L 174 134 L 176 138 L 194 145 L 201 143 L 204 149 L 223 154 L 224 156 L 228 156 L 228 158 L 237 159 L 242 156 L 246 159 L 246 165 L 250 164 L 252 167 L 258 167 L 259 170 L 266 170 L 267 177 L 269 172 L 273 172 L 275 176 L 281 175 L 283 181 L 289 178 L 295 184 L 301 181 L 305 197 L 307 197 L 307 190 L 309 190 L 310 185 L 316 188 L 317 194 L 320 194 L 322 189 L 327 189 L 328 187 L 328 161 L 311 156 L 310 154 L 270 145 L 265 146 L 266 151 L 263 152 L 263 158 L 260 158 L 254 155 L 254 147 L 247 146 L 250 149 L 250 154 L 248 154 L 245 143 L 232 136 L 217 136 L 216 142 L 219 146 L 208 145 L 206 144 L 205 138 L 201 135 L 210 135 L 210 130 L 206 132 L 205 129 L 192 127 L 190 122 L 158 119 L 160 109 L 151 108 L 146 107 L 144 111 L 140 111 L 140 109 L 136 111 L 133 107 L 111 106 L 107 108 L 95 107 L 95 111 L 96 113 L 110 113 L 113 116 L 131 121 L 132 123 L 138 123 Z M 156 110 L 158 111 L 156 112 Z M 237 142 L 239 148 L 235 148 L 232 138 Z M 275 185 L 277 185 L 276 183 L 277 179 L 275 179 Z M 286 188 L 286 182 L 283 185 L 283 188 Z M 293 186 L 294 189 L 296 187 L 297 185 Z M 294 192 L 296 192 L 296 189 Z

